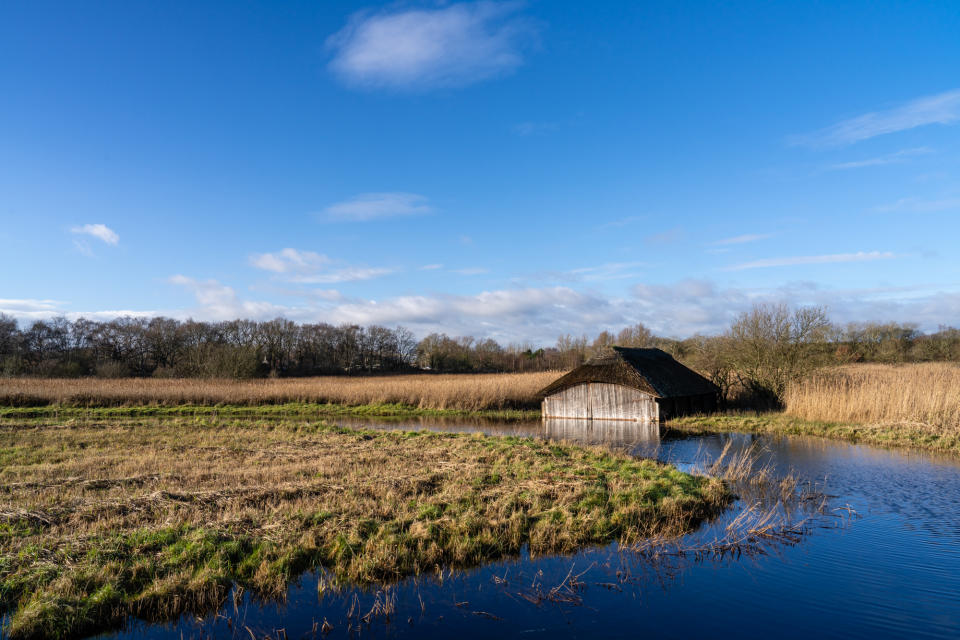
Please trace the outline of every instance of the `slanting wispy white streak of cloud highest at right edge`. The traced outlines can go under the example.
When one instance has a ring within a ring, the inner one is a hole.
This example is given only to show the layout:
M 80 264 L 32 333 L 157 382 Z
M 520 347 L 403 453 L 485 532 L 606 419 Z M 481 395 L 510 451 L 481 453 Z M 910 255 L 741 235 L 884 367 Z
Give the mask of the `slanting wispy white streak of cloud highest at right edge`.
M 960 89 L 917 98 L 886 111 L 865 113 L 812 134 L 794 136 L 790 142 L 814 148 L 838 147 L 888 133 L 957 121 L 960 121 Z

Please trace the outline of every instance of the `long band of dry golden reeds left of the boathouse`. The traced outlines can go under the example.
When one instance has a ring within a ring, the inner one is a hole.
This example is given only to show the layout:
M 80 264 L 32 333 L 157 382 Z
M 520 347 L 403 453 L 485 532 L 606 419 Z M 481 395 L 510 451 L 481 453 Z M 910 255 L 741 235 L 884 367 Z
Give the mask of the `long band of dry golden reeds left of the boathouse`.
M 0 406 L 124 406 L 296 402 L 402 404 L 479 411 L 538 408 L 536 393 L 562 372 L 269 380 L 156 378 L 0 378 Z

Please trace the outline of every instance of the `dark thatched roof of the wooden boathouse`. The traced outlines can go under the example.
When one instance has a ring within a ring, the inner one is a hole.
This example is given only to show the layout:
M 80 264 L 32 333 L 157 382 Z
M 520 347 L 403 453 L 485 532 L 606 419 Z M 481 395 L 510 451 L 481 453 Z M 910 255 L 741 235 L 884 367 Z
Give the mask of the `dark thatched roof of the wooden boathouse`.
M 585 382 L 606 382 L 639 389 L 658 398 L 719 393 L 720 389 L 660 349 L 612 347 L 587 360 L 540 391 L 540 396 Z

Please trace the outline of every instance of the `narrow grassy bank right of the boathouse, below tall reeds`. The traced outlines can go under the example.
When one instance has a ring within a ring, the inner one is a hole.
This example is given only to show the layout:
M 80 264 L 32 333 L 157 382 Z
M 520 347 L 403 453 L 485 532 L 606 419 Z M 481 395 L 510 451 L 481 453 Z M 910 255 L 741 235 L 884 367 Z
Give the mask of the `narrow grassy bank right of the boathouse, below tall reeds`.
M 881 447 L 911 447 L 960 455 L 960 429 L 944 429 L 923 423 L 857 424 L 807 420 L 788 413 L 772 412 L 691 416 L 672 420 L 666 426 L 693 432 L 741 431 L 820 436 Z

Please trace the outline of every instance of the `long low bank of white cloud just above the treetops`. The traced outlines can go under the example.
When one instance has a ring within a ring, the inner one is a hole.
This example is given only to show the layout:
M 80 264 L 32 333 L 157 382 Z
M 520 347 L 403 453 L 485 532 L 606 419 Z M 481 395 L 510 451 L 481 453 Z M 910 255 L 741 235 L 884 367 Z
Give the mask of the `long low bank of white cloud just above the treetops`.
M 815 283 L 788 283 L 774 288 L 721 286 L 709 280 L 635 285 L 625 298 L 607 297 L 569 287 L 517 288 L 475 295 L 407 295 L 385 300 L 343 299 L 333 290 L 290 292 L 306 299 L 303 306 L 243 300 L 232 287 L 216 280 L 183 275 L 169 282 L 189 290 L 196 306 L 165 311 L 70 311 L 54 300 L 2 300 L 0 312 L 29 322 L 65 316 L 110 320 L 121 316 L 168 317 L 197 320 L 277 316 L 298 322 L 402 324 L 417 335 L 434 331 L 451 335 L 494 338 L 500 342 L 550 345 L 559 335 L 596 335 L 642 322 L 658 335 L 687 337 L 725 330 L 739 313 L 755 303 L 785 302 L 823 305 L 831 319 L 851 321 L 917 322 L 924 330 L 956 324 L 960 317 L 960 283 L 918 284 L 873 289 L 830 289 Z

